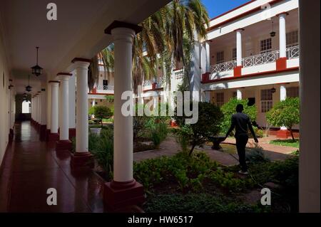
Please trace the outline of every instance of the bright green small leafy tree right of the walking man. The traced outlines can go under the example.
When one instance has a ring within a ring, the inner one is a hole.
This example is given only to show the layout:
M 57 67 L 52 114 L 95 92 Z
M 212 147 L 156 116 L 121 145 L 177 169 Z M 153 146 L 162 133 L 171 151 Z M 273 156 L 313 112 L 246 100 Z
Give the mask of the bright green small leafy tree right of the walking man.
M 285 100 L 275 103 L 269 112 L 266 113 L 266 120 L 271 125 L 287 127 L 290 130 L 292 140 L 292 127 L 300 123 L 300 100 L 298 97 L 287 97 Z

